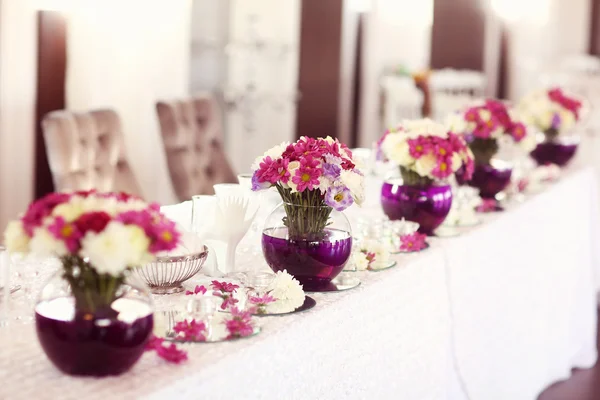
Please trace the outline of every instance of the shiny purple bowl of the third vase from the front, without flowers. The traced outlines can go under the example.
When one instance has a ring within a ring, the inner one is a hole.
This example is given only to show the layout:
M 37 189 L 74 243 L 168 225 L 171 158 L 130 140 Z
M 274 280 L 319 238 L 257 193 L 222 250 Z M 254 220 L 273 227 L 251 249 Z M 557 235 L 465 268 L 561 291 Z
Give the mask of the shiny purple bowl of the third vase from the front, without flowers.
M 419 232 L 433 235 L 452 206 L 450 185 L 409 186 L 384 182 L 381 206 L 391 220 L 406 219 L 419 224 Z

